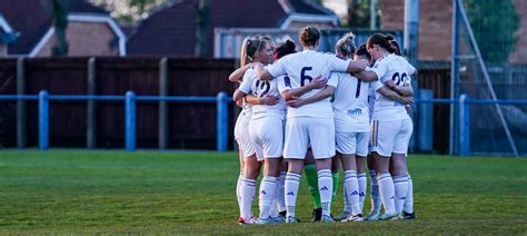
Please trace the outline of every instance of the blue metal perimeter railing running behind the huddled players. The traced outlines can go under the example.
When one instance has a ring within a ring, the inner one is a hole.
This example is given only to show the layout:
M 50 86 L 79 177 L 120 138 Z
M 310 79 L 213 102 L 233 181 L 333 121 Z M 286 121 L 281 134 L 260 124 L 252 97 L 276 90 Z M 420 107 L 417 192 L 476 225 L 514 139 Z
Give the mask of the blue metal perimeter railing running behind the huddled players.
M 125 142 L 126 149 L 136 149 L 136 104 L 138 101 L 156 102 L 205 102 L 216 104 L 216 147 L 218 151 L 226 151 L 228 144 L 228 104 L 232 98 L 221 91 L 216 97 L 198 96 L 137 96 L 133 91 L 127 91 L 125 96 L 87 96 L 87 95 L 50 95 L 42 90 L 39 95 L 0 95 L 0 100 L 38 100 L 39 101 L 39 149 L 49 149 L 49 102 L 52 101 L 125 101 Z M 470 155 L 470 105 L 527 105 L 527 100 L 490 100 L 470 99 L 461 95 L 459 99 L 417 99 L 416 104 L 454 104 L 459 106 L 459 154 Z M 431 116 L 431 114 L 430 114 Z M 432 124 L 428 124 L 432 125 Z

